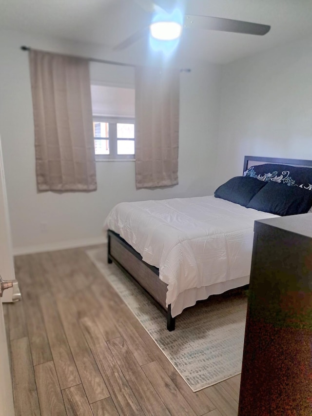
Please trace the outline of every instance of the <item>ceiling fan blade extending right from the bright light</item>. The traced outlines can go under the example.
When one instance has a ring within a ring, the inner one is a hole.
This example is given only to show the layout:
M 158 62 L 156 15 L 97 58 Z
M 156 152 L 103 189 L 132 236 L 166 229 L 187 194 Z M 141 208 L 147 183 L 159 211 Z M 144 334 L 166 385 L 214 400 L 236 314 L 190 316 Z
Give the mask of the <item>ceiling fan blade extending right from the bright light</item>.
M 249 35 L 265 35 L 271 29 L 271 26 L 267 24 L 196 15 L 185 15 L 184 27 L 187 29 L 220 30 L 222 32 L 246 33 Z

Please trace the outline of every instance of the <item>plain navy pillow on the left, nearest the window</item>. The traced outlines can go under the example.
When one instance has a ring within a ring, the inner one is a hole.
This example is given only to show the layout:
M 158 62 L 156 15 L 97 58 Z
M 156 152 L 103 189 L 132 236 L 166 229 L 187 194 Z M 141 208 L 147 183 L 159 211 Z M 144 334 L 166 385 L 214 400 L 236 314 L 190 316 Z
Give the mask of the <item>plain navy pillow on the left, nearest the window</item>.
M 235 176 L 215 190 L 215 198 L 226 199 L 245 207 L 266 184 L 267 182 L 255 178 Z

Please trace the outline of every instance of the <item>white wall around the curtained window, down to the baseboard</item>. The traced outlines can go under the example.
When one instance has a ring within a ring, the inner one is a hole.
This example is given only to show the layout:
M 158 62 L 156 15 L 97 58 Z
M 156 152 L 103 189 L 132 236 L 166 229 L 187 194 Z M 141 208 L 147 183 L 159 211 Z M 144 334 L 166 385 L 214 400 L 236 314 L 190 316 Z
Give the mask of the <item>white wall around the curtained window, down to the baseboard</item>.
M 97 162 L 96 192 L 38 194 L 28 56 L 21 45 L 111 59 L 97 45 L 0 33 L 0 133 L 15 253 L 97 243 L 105 216 L 119 201 L 213 193 L 220 66 L 185 61 L 192 71 L 181 73 L 178 185 L 137 191 L 134 162 Z

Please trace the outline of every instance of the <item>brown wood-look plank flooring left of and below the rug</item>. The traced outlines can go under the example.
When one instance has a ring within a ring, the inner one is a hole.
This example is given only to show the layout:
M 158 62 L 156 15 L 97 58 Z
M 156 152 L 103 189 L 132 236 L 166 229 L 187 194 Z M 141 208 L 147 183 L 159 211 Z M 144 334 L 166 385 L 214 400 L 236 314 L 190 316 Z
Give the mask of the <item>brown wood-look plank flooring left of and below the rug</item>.
M 85 248 L 17 256 L 15 270 L 16 416 L 237 416 L 240 376 L 193 393 Z

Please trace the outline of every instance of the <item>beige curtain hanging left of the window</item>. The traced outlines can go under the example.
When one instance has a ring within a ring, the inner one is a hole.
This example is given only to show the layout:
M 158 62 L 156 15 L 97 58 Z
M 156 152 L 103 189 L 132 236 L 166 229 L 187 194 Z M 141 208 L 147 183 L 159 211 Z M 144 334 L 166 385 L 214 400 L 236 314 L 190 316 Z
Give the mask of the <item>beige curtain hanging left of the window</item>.
M 97 189 L 89 63 L 29 52 L 38 191 Z

